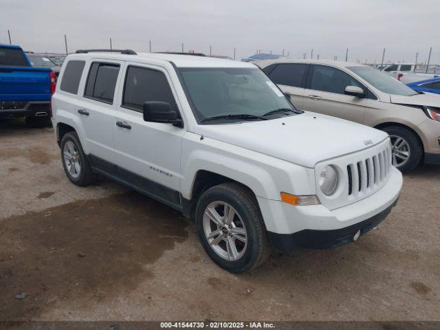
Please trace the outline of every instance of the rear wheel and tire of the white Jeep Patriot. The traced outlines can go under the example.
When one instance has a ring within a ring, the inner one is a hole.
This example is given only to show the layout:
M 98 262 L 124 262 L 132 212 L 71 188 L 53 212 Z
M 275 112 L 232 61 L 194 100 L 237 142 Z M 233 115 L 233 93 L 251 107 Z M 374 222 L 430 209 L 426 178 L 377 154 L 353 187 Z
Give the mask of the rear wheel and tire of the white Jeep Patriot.
M 61 159 L 67 177 L 76 186 L 94 184 L 98 179 L 98 174 L 91 170 L 76 132 L 66 133 L 61 139 Z

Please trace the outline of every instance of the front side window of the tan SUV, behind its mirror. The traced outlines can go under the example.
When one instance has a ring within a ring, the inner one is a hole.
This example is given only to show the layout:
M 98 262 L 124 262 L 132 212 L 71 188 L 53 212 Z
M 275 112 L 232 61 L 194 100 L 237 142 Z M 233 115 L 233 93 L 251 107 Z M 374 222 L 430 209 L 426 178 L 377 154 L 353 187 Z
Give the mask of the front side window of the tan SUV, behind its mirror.
M 329 93 L 345 94 L 347 86 L 358 86 L 365 88 L 361 83 L 349 74 L 336 67 L 327 67 L 326 65 L 314 65 L 307 88 L 316 91 L 327 91 Z

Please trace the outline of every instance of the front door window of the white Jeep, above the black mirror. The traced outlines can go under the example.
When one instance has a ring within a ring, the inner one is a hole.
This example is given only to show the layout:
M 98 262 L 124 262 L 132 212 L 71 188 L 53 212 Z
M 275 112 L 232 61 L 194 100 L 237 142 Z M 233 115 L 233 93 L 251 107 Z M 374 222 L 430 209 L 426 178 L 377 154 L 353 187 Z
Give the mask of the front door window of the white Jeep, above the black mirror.
M 175 107 L 170 85 L 163 72 L 144 67 L 128 67 L 122 107 L 135 111 L 144 109 L 144 102 L 163 101 Z

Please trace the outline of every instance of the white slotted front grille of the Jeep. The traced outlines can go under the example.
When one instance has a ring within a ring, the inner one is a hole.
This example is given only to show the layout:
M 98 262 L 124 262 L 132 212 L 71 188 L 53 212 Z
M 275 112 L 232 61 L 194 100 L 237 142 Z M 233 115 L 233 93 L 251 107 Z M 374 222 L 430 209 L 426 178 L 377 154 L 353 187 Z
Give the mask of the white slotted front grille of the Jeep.
M 347 165 L 349 196 L 365 192 L 384 181 L 391 168 L 391 151 L 385 148 L 373 157 Z

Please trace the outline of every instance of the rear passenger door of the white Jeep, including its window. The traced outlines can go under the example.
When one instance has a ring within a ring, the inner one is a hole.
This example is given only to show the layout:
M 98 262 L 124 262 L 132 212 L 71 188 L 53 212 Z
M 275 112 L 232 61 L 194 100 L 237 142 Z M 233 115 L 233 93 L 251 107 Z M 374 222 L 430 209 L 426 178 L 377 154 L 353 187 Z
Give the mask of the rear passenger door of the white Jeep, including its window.
M 122 65 L 122 61 L 89 61 L 87 78 L 80 88 L 82 102 L 75 109 L 85 129 L 92 162 L 100 167 L 115 161 L 112 125 Z

